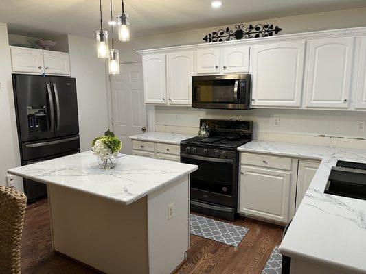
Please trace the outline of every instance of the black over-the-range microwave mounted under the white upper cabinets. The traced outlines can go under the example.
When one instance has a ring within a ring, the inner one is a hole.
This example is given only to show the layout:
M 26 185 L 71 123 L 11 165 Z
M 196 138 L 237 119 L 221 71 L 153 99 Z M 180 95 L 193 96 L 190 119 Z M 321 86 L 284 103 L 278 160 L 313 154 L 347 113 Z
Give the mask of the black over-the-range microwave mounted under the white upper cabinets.
M 192 77 L 192 108 L 249 110 L 250 105 L 250 74 Z

